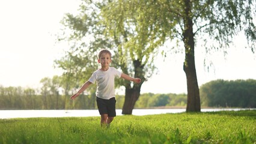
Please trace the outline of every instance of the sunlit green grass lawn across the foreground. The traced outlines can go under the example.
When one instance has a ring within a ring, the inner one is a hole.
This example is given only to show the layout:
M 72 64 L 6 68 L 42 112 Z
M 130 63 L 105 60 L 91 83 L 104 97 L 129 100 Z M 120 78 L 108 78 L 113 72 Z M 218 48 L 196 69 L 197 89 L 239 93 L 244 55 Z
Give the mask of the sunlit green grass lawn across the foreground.
M 0 119 L 0 143 L 256 143 L 256 110 L 100 117 Z

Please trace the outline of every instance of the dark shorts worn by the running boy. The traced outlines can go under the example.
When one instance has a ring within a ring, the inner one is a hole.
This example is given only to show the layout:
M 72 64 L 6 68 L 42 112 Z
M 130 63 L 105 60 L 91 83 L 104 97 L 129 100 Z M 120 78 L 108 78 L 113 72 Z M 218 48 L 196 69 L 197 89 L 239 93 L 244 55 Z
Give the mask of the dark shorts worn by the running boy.
M 97 97 L 97 106 L 100 112 L 100 115 L 102 114 L 108 114 L 110 117 L 114 117 L 117 114 L 115 113 L 115 103 L 117 101 L 115 98 L 110 98 L 109 100 L 104 100 L 102 98 Z

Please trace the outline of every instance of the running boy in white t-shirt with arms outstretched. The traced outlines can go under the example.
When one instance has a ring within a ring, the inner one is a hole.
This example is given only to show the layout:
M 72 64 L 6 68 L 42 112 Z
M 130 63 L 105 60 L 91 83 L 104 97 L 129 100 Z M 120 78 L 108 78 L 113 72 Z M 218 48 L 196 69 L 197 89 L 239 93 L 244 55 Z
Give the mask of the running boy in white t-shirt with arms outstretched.
M 115 77 L 122 77 L 123 79 L 130 80 L 135 83 L 140 83 L 141 79 L 133 78 L 127 74 L 121 73 L 114 67 L 109 67 L 111 64 L 111 52 L 109 50 L 101 50 L 98 55 L 98 62 L 101 65 L 99 70 L 94 71 L 90 79 L 82 85 L 76 94 L 70 97 L 71 100 L 75 100 L 81 92 L 85 91 L 91 83 L 97 83 L 97 107 L 100 112 L 100 124 L 102 126 L 109 127 L 110 123 L 116 116 L 115 112 L 115 89 L 114 79 Z

